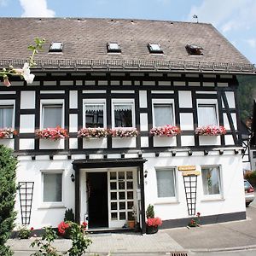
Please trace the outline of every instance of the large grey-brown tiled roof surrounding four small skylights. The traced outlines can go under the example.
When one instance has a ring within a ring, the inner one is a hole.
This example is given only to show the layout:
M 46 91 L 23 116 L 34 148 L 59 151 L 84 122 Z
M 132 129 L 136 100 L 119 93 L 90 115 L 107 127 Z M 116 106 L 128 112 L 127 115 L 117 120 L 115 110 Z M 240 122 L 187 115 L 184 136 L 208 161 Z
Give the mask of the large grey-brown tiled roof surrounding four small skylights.
M 204 63 L 203 66 L 214 69 L 214 62 L 223 63 L 219 64 L 223 65 L 223 68 L 232 66 L 239 71 L 241 67 L 245 67 L 255 71 L 245 56 L 211 24 L 205 23 L 87 18 L 0 18 L 0 31 L 0 66 L 6 64 L 1 60 L 26 59 L 29 55 L 27 45 L 32 44 L 35 37 L 39 37 L 45 38 L 47 43 L 44 45 L 44 52 L 37 55 L 37 60 L 44 60 L 49 66 L 58 66 L 57 63 L 62 63 L 63 66 L 75 65 L 78 60 L 84 65 L 90 60 L 94 60 L 93 63 L 99 63 L 97 60 L 108 60 L 113 66 L 132 61 L 138 66 L 145 63 L 143 61 L 166 65 L 171 62 L 178 65 L 184 62 L 198 68 Z M 63 52 L 49 53 L 51 42 L 63 42 Z M 108 42 L 119 43 L 121 54 L 107 53 Z M 164 54 L 150 54 L 148 43 L 160 44 Z M 200 45 L 203 55 L 189 55 L 185 49 L 186 44 Z M 83 62 L 84 60 L 86 61 Z

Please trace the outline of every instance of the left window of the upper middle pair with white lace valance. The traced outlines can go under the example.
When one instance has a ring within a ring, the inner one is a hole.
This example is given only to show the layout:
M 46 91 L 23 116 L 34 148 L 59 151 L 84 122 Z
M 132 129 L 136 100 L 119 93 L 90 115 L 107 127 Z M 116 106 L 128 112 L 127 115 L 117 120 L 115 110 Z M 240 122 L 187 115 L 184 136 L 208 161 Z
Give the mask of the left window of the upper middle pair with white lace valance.
M 103 128 L 106 126 L 104 103 L 85 103 L 84 104 L 84 123 L 85 127 Z

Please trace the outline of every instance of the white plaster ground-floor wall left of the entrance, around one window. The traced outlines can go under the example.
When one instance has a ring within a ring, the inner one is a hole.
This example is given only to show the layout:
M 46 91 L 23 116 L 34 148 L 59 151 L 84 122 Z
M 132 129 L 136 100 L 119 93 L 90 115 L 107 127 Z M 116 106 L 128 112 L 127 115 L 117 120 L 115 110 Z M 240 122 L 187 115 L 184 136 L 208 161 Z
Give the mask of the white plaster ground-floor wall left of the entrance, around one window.
M 73 173 L 73 160 L 20 160 L 17 168 L 18 182 L 34 182 L 32 199 L 32 216 L 30 227 L 41 229 L 44 226 L 56 227 L 64 218 L 66 208 L 74 210 L 74 183 L 70 175 Z M 46 207 L 42 195 L 42 172 L 40 170 L 63 170 L 63 202 L 59 206 Z M 20 196 L 16 195 L 15 210 L 18 212 L 16 224 L 21 224 Z

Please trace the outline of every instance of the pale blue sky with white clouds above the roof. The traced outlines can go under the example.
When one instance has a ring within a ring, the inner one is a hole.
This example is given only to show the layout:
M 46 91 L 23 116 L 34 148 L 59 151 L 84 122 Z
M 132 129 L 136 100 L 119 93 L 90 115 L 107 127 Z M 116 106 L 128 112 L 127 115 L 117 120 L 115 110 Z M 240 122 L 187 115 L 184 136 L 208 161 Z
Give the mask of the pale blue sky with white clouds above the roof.
M 0 0 L 0 17 L 83 17 L 212 23 L 256 64 L 256 0 Z

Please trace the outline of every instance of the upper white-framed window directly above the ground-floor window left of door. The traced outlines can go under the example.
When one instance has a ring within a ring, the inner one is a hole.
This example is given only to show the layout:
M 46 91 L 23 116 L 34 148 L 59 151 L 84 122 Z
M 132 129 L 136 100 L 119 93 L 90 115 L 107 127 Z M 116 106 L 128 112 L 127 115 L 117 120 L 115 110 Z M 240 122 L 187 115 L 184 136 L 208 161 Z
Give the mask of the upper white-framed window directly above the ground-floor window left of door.
M 41 129 L 64 127 L 64 101 L 41 101 Z

